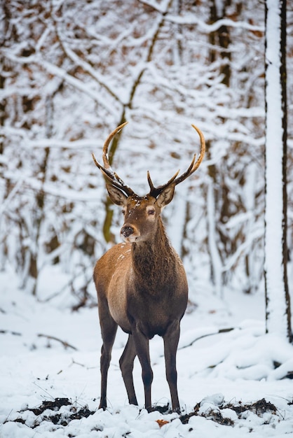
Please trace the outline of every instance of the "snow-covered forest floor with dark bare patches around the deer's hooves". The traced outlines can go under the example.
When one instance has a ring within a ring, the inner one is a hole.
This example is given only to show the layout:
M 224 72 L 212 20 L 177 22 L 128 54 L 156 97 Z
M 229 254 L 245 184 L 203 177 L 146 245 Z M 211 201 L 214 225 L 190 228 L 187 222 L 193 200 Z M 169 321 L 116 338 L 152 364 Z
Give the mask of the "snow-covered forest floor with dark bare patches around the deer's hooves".
M 51 279 L 59 278 L 52 274 Z M 198 292 L 182 320 L 177 354 L 182 415 L 170 412 L 163 342 L 151 345 L 152 400 L 129 406 L 118 359 L 118 331 L 109 369 L 108 406 L 100 396 L 97 309 L 65 309 L 61 298 L 39 302 L 0 274 L 0 437 L 287 437 L 293 435 L 293 346 L 264 334 L 264 297 Z M 48 285 L 50 282 L 48 281 Z M 65 295 L 64 295 L 65 297 Z

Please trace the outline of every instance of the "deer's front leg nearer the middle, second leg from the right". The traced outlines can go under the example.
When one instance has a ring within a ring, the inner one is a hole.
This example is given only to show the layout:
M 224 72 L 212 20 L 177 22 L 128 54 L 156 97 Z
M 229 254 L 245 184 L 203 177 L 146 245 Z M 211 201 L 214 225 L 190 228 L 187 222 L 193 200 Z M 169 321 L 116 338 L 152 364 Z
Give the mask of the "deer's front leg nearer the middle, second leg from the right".
M 142 365 L 142 381 L 144 382 L 144 407 L 151 411 L 151 383 L 153 381 L 153 370 L 151 369 L 151 360 L 149 358 L 149 339 L 138 329 L 137 326 L 132 330 L 135 348 Z

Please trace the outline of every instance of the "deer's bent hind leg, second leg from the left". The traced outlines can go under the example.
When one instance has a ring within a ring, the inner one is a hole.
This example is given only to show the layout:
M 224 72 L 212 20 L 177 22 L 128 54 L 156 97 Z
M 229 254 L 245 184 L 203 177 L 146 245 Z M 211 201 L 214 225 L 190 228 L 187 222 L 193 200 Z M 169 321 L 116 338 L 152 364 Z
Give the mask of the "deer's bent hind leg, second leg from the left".
M 128 400 L 130 404 L 137 405 L 137 398 L 135 395 L 135 387 L 133 385 L 133 362 L 135 360 L 135 356 L 137 355 L 135 342 L 133 341 L 133 337 L 130 334 L 128 336 L 127 344 L 125 345 L 123 354 L 119 360 L 120 369 L 123 376 L 123 381 L 125 384 L 125 388 L 128 394 Z

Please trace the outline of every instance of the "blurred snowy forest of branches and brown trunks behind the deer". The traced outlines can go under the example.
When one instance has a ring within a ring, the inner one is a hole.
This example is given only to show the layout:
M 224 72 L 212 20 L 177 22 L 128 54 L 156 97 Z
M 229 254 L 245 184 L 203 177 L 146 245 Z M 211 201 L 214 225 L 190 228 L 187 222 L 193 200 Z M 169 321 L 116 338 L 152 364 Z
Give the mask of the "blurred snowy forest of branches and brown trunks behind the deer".
M 140 195 L 207 153 L 164 211 L 198 295 L 264 292 L 264 2 L 4 1 L 0 265 L 42 301 L 95 306 L 95 260 L 119 239 L 98 160 Z M 287 7 L 287 247 L 293 245 L 293 11 Z M 289 269 L 289 284 L 293 272 Z M 48 292 L 50 281 L 50 292 Z M 46 292 L 44 292 L 46 291 Z

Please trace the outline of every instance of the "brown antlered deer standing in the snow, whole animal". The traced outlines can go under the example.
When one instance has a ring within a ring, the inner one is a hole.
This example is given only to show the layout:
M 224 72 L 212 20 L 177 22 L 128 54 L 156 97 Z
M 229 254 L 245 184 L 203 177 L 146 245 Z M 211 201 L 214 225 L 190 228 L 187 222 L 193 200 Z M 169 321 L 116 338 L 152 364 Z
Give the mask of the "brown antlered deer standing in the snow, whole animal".
M 161 219 L 161 212 L 170 204 L 175 186 L 198 169 L 205 155 L 203 133 L 191 125 L 200 137 L 200 154 L 196 154 L 188 169 L 179 176 L 155 187 L 147 171 L 149 193 L 138 196 L 111 168 L 109 143 L 123 129 L 124 122 L 114 129 L 104 142 L 103 164 L 93 161 L 106 181 L 111 201 L 122 207 L 123 242 L 107 250 L 97 261 L 93 279 L 97 290 L 98 313 L 102 334 L 100 357 L 101 395 L 99 409 L 107 408 L 107 374 L 117 327 L 128 334 L 128 341 L 119 365 L 130 404 L 137 404 L 133 383 L 136 356 L 142 367 L 144 407 L 151 411 L 151 383 L 153 371 L 149 354 L 149 340 L 156 334 L 163 337 L 165 375 L 170 388 L 172 411 L 180 412 L 177 392 L 176 356 L 180 321 L 188 302 L 186 273 L 179 255 L 172 248 Z

